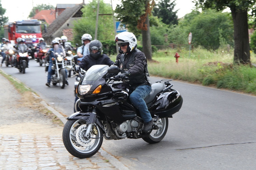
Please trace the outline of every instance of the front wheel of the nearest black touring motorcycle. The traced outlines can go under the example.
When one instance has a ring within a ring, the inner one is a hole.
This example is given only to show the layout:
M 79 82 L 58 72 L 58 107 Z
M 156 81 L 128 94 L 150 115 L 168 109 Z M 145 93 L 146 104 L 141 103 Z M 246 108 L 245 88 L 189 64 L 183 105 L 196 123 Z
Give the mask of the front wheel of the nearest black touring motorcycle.
M 88 123 L 83 119 L 69 119 L 62 132 L 62 139 L 67 151 L 78 158 L 95 155 L 103 142 L 103 132 L 97 124 L 93 124 L 89 138 L 83 136 Z

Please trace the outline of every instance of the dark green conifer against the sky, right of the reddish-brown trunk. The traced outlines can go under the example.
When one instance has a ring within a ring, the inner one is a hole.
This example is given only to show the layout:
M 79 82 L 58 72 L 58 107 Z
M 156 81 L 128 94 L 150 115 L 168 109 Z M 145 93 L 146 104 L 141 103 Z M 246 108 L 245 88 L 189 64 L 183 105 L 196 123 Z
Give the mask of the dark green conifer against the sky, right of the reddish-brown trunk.
M 161 21 L 167 25 L 178 24 L 178 10 L 174 11 L 175 0 L 161 0 L 154 7 L 154 16 L 161 18 Z

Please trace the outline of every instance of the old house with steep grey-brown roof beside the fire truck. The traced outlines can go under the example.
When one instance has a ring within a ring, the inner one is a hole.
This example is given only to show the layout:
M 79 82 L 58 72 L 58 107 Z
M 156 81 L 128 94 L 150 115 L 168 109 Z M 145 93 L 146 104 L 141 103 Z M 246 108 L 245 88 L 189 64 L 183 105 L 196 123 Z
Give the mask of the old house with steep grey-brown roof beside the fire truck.
M 56 7 L 56 13 L 60 13 L 60 15 L 58 15 L 52 24 L 48 26 L 47 32 L 43 33 L 43 38 L 47 44 L 50 45 L 54 38 L 61 37 L 62 35 L 67 36 L 69 41 L 73 40 L 73 22 L 82 18 L 81 8 L 84 3 L 69 5 L 71 7 L 67 7 L 63 11 Z

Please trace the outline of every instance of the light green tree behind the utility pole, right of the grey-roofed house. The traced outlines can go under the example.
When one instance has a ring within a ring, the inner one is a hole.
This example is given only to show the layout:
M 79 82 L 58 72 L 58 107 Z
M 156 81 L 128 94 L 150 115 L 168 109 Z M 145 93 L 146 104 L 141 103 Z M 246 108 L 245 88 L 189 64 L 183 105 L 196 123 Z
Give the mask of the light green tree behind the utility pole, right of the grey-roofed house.
M 97 6 L 98 0 L 93 0 L 89 4 L 84 5 L 81 9 L 83 16 L 80 20 L 74 22 L 74 40 L 73 43 L 81 44 L 81 36 L 83 34 L 90 34 L 93 39 L 95 37 L 96 28 L 96 16 L 97 16 Z M 98 31 L 97 39 L 103 40 L 115 40 L 115 31 L 112 15 L 102 15 L 102 14 L 112 14 L 112 7 L 109 4 L 100 0 L 99 4 L 99 18 L 98 18 Z

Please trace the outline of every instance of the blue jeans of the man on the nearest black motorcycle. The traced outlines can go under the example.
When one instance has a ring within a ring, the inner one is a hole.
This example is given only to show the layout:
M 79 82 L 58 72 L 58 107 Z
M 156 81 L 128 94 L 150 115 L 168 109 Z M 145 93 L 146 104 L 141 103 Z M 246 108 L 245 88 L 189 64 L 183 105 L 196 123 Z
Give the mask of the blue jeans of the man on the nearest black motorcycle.
M 130 94 L 131 103 L 137 107 L 140 111 L 140 115 L 145 123 L 152 120 L 151 114 L 147 109 L 146 102 L 144 99 L 150 94 L 151 86 L 141 85 L 138 86 L 132 93 Z

